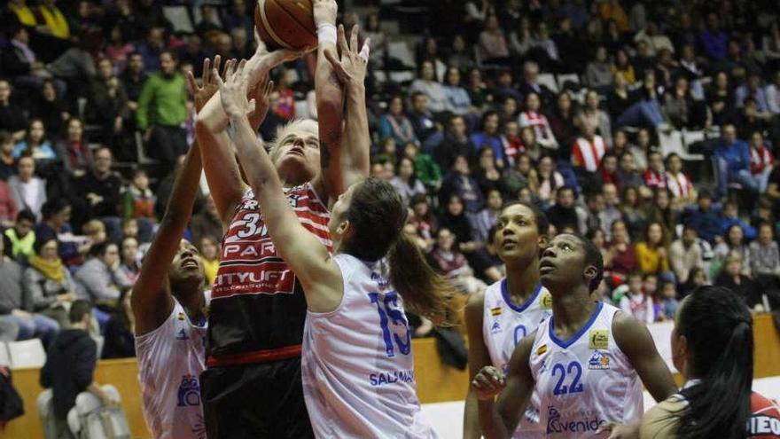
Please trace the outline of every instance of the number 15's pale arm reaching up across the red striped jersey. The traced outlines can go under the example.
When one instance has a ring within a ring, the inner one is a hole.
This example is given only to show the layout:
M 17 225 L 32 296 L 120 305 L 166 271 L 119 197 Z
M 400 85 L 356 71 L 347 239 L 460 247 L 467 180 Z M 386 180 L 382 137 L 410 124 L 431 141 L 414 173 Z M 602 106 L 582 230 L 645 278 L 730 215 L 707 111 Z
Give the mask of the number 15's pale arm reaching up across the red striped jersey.
M 290 265 L 306 293 L 308 309 L 315 312 L 334 310 L 344 292 L 341 272 L 328 249 L 309 233 L 295 216 L 277 169 L 261 141 L 250 126 L 246 114 L 254 107 L 246 101 L 247 78 L 244 65 L 226 74 L 220 84 L 222 106 L 230 116 L 230 131 L 246 178 L 254 197 L 260 203 L 263 220 L 278 255 Z M 270 90 L 268 87 L 266 90 Z M 267 104 L 266 104 L 267 105 Z

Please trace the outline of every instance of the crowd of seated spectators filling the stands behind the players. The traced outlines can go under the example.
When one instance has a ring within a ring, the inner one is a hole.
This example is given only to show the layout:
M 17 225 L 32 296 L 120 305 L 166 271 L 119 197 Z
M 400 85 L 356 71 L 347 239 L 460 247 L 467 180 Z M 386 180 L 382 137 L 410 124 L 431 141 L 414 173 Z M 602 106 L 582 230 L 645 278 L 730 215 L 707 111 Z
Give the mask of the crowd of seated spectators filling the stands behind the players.
M 48 343 L 81 299 L 104 357 L 134 355 L 130 286 L 194 138 L 182 72 L 253 53 L 253 2 L 195 3 L 2 7 L 5 341 Z M 755 312 L 780 309 L 776 2 L 411 2 L 424 12 L 409 20 L 416 35 L 384 25 L 406 12 L 379 3 L 341 9 L 372 42 L 371 175 L 409 203 L 405 231 L 463 294 L 503 277 L 496 215 L 526 200 L 552 234 L 597 244 L 608 274 L 598 294 L 645 322 L 709 283 Z M 192 29 L 174 26 L 168 6 Z M 316 118 L 314 56 L 273 73 L 264 139 Z M 690 133 L 698 140 L 675 144 Z M 209 281 L 221 237 L 204 192 L 187 238 Z

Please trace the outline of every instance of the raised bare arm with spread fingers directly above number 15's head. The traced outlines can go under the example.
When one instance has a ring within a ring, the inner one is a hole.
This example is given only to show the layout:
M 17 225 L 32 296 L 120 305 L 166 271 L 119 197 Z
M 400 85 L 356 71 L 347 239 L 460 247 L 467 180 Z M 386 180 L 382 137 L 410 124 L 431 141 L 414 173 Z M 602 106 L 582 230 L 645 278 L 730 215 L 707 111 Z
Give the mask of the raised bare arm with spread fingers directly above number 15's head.
M 344 85 L 347 98 L 347 113 L 344 114 L 344 135 L 341 146 L 335 154 L 338 156 L 338 168 L 331 166 L 329 153 L 322 157 L 323 176 L 331 182 L 331 195 L 335 198 L 347 190 L 352 184 L 360 182 L 369 176 L 370 144 L 369 117 L 365 102 L 365 74 L 370 55 L 370 39 L 363 43 L 358 51 L 358 27 L 352 27 L 352 33 L 347 46 L 347 36 L 344 27 L 339 26 L 339 47 L 341 59 L 331 51 L 325 52 L 325 58 Z

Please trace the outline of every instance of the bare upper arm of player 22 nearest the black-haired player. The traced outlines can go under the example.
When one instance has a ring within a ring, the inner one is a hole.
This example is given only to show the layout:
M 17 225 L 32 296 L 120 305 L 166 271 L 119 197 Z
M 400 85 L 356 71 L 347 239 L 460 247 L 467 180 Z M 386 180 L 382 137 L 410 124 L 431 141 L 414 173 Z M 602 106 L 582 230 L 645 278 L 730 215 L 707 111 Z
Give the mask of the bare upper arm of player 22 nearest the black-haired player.
M 650 331 L 636 318 L 625 312 L 615 315 L 612 321 L 612 333 L 618 347 L 634 366 L 644 388 L 650 392 L 656 402 L 661 402 L 677 391 L 675 380 L 667 364 L 660 357 Z

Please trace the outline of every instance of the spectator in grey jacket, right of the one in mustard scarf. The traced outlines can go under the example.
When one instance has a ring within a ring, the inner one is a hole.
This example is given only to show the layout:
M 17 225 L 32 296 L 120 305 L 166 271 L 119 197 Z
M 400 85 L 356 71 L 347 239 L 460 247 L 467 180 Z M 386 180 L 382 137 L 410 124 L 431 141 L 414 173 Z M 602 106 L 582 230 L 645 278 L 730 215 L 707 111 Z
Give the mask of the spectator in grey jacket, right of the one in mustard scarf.
M 90 259 L 76 271 L 75 280 L 82 286 L 83 299 L 98 306 L 115 309 L 122 290 L 132 283 L 119 269 L 119 249 L 116 244 L 102 242 L 90 248 Z M 98 320 L 100 320 L 98 316 Z

